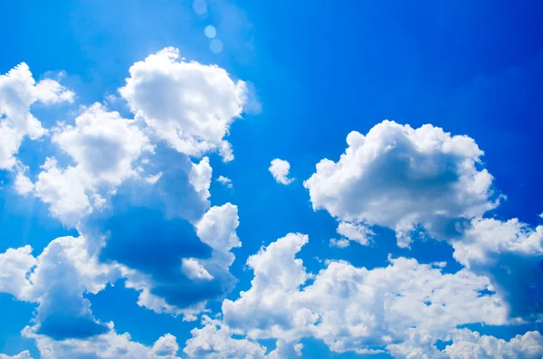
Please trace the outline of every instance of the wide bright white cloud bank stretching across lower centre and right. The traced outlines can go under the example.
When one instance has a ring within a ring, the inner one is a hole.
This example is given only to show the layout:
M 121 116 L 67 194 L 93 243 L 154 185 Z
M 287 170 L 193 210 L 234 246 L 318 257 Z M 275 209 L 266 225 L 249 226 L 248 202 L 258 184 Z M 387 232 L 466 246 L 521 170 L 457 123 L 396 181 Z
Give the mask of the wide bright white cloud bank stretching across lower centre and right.
M 291 233 L 249 258 L 252 287 L 224 300 L 227 326 L 252 338 L 313 336 L 335 352 L 372 353 L 406 340 L 410 327 L 445 338 L 462 324 L 506 322 L 500 299 L 481 294 L 488 279 L 467 270 L 443 274 L 398 258 L 371 270 L 331 261 L 311 275 L 295 257 L 307 241 Z

